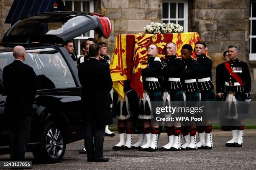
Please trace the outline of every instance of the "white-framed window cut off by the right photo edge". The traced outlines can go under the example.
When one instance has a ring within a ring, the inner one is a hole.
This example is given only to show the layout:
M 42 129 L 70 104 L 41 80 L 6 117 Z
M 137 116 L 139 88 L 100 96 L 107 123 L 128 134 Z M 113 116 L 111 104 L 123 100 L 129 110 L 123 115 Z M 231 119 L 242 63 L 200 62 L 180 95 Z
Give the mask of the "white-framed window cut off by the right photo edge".
M 250 60 L 256 60 L 256 1 L 250 6 Z

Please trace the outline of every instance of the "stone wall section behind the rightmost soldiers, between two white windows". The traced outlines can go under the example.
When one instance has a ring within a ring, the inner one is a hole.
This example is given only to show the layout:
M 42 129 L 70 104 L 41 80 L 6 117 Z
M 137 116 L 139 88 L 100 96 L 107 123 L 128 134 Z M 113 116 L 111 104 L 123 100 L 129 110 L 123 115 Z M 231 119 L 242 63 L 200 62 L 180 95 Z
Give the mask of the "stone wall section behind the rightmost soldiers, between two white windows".
M 193 0 L 189 1 L 189 31 L 199 32 L 209 48 L 215 68 L 223 62 L 223 52 L 229 45 L 239 49 L 239 60 L 248 63 L 252 79 L 252 93 L 256 93 L 256 69 L 249 61 L 250 0 Z M 255 67 L 255 66 L 254 66 Z

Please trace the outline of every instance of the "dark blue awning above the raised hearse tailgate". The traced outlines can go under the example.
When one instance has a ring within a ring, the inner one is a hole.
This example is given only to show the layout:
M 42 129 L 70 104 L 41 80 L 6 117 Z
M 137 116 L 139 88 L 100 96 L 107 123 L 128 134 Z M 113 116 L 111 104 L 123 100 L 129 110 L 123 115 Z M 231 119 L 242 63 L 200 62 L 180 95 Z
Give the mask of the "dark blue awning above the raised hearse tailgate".
M 13 25 L 33 14 L 60 10 L 66 10 L 62 0 L 14 0 L 5 23 Z

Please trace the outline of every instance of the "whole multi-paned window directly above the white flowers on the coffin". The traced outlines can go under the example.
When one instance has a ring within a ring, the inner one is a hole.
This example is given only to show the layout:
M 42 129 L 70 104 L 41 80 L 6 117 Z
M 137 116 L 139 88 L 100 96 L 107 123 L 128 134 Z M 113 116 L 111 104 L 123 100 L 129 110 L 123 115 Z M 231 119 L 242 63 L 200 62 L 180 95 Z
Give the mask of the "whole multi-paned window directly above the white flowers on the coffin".
M 162 5 L 162 23 L 182 25 L 187 32 L 187 0 L 163 0 Z

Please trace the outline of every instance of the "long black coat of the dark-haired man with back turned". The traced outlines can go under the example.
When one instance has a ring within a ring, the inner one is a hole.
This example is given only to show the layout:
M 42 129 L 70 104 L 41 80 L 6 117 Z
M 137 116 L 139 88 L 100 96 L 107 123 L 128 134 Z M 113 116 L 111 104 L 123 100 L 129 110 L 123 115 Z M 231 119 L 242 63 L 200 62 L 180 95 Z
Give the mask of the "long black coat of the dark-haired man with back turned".
M 84 118 L 95 128 L 112 124 L 108 93 L 112 89 L 113 82 L 108 65 L 90 58 L 79 65 L 78 77 L 83 87 Z

